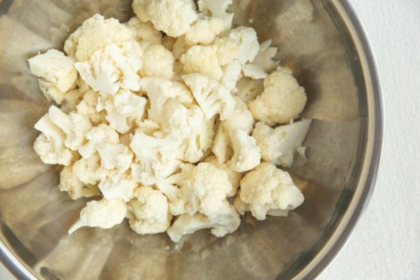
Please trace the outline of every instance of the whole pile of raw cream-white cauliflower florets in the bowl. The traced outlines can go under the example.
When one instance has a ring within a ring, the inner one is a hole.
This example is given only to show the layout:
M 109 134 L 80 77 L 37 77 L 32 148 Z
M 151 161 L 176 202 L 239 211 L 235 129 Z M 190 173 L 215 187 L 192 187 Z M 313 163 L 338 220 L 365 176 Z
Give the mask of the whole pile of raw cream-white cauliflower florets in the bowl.
M 246 211 L 264 220 L 302 204 L 276 165 L 304 156 L 311 120 L 293 120 L 306 94 L 271 41 L 232 29 L 231 2 L 135 0 L 129 22 L 94 15 L 67 39 L 66 55 L 29 59 L 59 106 L 35 125 L 36 153 L 64 165 L 59 189 L 73 200 L 102 196 L 69 233 L 128 218 L 141 235 L 179 241 L 211 228 L 223 237 Z

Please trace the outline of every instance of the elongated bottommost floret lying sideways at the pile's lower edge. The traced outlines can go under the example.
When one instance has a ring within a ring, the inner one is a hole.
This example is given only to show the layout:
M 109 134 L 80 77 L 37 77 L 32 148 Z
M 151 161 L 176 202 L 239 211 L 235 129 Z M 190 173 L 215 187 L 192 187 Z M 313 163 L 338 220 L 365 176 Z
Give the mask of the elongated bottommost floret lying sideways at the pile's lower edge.
M 172 241 L 178 242 L 183 235 L 190 235 L 197 230 L 211 228 L 211 233 L 216 237 L 223 237 L 239 228 L 241 219 L 234 207 L 228 203 L 223 204 L 217 214 L 212 216 L 204 216 L 196 213 L 193 216 L 190 214 L 182 214 L 167 229 L 167 234 Z

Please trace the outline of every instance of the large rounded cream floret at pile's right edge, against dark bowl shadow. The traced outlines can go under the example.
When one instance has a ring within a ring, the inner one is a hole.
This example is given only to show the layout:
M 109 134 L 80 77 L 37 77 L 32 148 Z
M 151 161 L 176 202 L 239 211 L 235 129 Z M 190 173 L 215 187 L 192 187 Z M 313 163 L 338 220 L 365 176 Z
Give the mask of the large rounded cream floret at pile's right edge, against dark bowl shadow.
M 292 71 L 279 67 L 264 80 L 264 92 L 248 103 L 254 118 L 267 125 L 290 123 L 302 113 L 307 102 L 304 88 Z

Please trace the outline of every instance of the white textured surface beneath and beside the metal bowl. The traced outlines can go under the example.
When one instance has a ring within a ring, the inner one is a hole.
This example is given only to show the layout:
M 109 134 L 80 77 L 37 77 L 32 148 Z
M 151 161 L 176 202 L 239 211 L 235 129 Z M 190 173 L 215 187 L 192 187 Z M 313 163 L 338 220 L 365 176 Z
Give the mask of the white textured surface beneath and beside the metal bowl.
M 372 200 L 318 280 L 420 279 L 420 0 L 351 0 L 377 55 L 386 137 Z M 0 265 L 0 279 L 14 279 Z

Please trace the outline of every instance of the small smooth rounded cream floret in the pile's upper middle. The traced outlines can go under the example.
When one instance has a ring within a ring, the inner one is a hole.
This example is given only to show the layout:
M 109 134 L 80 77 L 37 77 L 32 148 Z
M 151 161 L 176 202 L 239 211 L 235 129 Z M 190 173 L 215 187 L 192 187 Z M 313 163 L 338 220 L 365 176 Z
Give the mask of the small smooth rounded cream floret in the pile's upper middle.
M 161 77 L 168 80 L 174 76 L 174 55 L 163 45 L 149 45 L 144 50 L 142 77 Z

